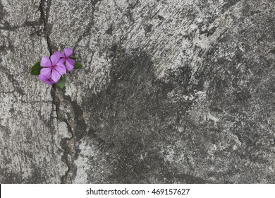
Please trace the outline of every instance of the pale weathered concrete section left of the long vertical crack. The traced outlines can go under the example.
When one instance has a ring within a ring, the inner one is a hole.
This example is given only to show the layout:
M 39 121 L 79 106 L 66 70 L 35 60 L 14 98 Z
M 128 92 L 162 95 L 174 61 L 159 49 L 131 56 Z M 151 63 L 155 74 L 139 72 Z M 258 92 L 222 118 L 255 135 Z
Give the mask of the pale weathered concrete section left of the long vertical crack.
M 0 182 L 56 183 L 66 173 L 60 139 L 68 136 L 56 120 L 51 87 L 29 74 L 49 55 L 42 34 L 39 1 L 1 1 Z

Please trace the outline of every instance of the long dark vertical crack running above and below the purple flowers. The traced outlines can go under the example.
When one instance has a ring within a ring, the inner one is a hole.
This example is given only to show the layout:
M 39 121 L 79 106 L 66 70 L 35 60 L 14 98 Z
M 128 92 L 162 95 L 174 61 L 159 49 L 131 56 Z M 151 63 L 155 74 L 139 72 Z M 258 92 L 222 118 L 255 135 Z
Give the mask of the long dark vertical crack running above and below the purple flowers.
M 94 6 L 97 4 L 98 0 L 92 1 L 93 12 Z M 40 3 L 40 21 L 44 25 L 41 35 L 47 40 L 47 47 L 50 54 L 53 54 L 53 47 L 51 45 L 51 28 L 49 27 L 49 10 L 51 6 L 51 0 L 42 0 Z M 93 22 L 92 22 L 93 23 Z M 90 27 L 92 24 L 88 25 Z M 88 28 L 90 29 L 90 28 Z M 87 31 L 86 31 L 87 32 Z M 86 34 L 86 33 L 85 33 Z M 68 170 L 61 177 L 61 183 L 72 183 L 77 168 L 74 165 L 74 160 L 78 158 L 78 153 L 80 150 L 76 145 L 76 142 L 80 140 L 82 135 L 87 129 L 87 124 L 85 123 L 84 118 L 82 117 L 83 112 L 77 103 L 73 102 L 71 98 L 65 95 L 65 91 L 53 85 L 51 88 L 51 98 L 52 98 L 52 112 L 56 111 L 56 116 L 58 120 L 66 122 L 68 126 L 68 132 L 71 133 L 71 138 L 61 139 L 61 148 L 63 148 L 63 156 L 61 157 L 62 161 L 68 166 Z M 54 109 L 54 105 L 56 108 Z M 54 114 L 51 115 L 51 122 L 54 123 Z

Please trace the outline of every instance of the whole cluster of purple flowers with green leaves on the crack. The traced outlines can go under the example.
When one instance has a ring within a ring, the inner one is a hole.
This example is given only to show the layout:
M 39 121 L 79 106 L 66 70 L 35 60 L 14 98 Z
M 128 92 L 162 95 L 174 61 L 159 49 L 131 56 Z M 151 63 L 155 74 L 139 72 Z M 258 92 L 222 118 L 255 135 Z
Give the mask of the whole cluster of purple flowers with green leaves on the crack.
M 55 84 L 59 88 L 65 86 L 65 77 L 67 71 L 80 69 L 80 62 L 75 62 L 77 58 L 73 57 L 73 50 L 65 48 L 62 52 L 54 52 L 50 57 L 42 57 L 40 62 L 32 66 L 30 73 L 37 76 L 39 80 L 52 85 Z

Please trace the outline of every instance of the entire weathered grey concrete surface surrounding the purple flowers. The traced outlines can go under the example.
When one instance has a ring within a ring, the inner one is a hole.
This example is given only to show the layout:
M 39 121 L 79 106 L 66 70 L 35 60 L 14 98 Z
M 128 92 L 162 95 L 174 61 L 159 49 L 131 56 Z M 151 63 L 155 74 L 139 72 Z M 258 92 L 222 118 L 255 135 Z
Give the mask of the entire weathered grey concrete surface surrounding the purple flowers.
M 0 2 L 0 182 L 275 183 L 273 0 Z

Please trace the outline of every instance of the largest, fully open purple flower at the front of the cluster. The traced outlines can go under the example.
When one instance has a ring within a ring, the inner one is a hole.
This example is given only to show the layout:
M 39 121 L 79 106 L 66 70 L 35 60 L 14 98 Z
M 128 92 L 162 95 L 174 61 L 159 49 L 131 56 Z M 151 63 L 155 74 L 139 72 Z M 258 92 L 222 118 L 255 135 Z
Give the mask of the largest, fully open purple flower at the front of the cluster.
M 40 65 L 44 67 L 40 71 L 40 74 L 44 76 L 43 78 L 51 77 L 54 82 L 58 82 L 61 75 L 66 74 L 64 60 L 60 59 L 58 54 L 52 54 L 50 59 L 49 57 L 43 57 Z

